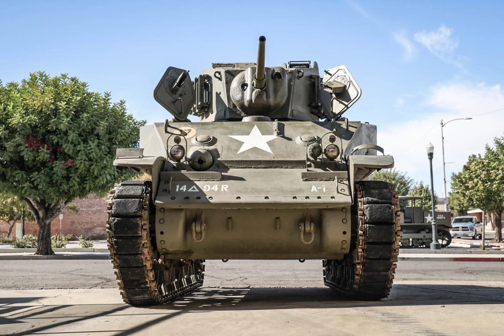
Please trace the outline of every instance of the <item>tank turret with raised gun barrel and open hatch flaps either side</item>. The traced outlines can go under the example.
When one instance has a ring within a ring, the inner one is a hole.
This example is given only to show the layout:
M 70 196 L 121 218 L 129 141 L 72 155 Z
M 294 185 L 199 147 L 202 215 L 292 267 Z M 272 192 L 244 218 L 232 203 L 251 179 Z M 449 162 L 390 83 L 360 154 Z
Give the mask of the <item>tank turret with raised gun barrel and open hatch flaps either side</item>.
M 317 121 L 341 116 L 360 88 L 341 65 L 319 74 L 317 62 L 290 61 L 265 66 L 266 37 L 259 37 L 257 62 L 212 63 L 193 82 L 188 71 L 170 66 L 154 90 L 154 98 L 175 120 L 194 114 L 201 121 Z M 257 118 L 256 118 L 257 119 Z

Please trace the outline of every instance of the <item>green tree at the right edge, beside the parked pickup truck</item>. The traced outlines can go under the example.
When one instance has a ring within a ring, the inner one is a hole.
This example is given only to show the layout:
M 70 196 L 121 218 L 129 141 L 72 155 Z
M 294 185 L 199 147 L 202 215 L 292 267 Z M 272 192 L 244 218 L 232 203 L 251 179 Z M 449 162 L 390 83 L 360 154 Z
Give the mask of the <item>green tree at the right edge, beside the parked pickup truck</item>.
M 452 174 L 452 195 L 459 208 L 494 213 L 495 237 L 492 242 L 502 242 L 504 138 L 496 138 L 494 145 L 494 148 L 486 146 L 484 157 L 471 155 L 462 171 Z

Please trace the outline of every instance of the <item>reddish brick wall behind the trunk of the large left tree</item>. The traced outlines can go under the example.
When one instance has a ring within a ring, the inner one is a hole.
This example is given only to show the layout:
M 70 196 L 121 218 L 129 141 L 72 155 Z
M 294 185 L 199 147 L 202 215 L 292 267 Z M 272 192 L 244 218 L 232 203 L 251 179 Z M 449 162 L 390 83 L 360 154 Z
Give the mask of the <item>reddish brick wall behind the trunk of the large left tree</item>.
M 62 234 L 73 234 L 74 239 L 80 235 L 90 239 L 107 239 L 107 199 L 99 198 L 95 194 L 89 194 L 88 198 L 77 199 L 72 204 L 77 206 L 79 212 L 72 213 L 69 210 L 63 212 L 61 221 Z M 21 222 L 21 221 L 20 221 Z M 0 224 L 0 232 L 8 230 L 7 224 Z M 25 221 L 25 234 L 37 235 L 36 222 Z M 51 235 L 59 234 L 59 218 L 56 217 L 51 223 Z M 11 237 L 16 237 L 16 227 L 13 228 Z

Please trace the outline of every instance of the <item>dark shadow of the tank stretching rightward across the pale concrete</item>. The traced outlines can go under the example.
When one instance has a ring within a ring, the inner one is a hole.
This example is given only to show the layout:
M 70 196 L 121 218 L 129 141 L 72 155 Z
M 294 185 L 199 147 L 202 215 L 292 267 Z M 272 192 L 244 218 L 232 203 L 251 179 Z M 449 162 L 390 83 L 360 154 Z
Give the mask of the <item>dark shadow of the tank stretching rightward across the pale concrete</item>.
M 394 285 L 387 299 L 356 301 L 338 298 L 328 288 L 203 288 L 149 308 L 208 311 L 452 304 L 504 304 L 504 291 L 471 285 Z

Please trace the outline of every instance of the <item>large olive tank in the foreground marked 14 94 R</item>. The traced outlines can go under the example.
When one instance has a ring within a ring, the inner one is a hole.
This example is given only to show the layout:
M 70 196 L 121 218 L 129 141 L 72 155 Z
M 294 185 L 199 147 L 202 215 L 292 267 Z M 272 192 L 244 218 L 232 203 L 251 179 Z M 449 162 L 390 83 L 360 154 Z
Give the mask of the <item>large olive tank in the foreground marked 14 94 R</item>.
M 170 66 L 154 99 L 173 116 L 140 128 L 113 162 L 151 176 L 110 193 L 108 245 L 120 292 L 165 303 L 203 285 L 205 259 L 319 259 L 339 296 L 389 294 L 400 238 L 394 166 L 376 126 L 343 114 L 361 90 L 345 66 L 212 63 L 191 80 Z M 192 114 L 199 122 L 188 120 Z

